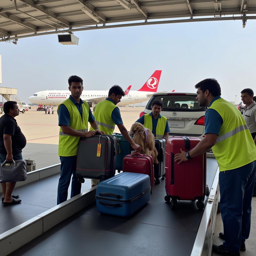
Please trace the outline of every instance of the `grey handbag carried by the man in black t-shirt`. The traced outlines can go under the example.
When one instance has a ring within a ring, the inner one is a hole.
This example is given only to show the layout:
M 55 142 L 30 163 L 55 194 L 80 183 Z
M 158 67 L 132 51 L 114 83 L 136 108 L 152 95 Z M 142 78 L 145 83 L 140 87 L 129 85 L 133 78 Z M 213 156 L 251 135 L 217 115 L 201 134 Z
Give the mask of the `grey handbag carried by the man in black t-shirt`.
M 27 179 L 27 163 L 25 159 L 7 162 L 0 165 L 0 183 L 24 181 Z

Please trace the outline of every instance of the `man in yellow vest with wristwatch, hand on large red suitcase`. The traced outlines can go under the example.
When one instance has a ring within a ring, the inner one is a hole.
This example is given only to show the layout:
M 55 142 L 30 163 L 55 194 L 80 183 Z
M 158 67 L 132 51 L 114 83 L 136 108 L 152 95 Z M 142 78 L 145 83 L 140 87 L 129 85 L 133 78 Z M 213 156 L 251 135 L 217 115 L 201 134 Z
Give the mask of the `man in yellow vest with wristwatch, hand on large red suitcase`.
M 245 251 L 251 225 L 251 200 L 256 174 L 256 148 L 239 110 L 222 99 L 219 83 L 212 78 L 198 84 L 199 106 L 205 113 L 205 138 L 198 145 L 175 155 L 178 164 L 207 152 L 211 147 L 219 165 L 220 211 L 225 239 L 212 250 L 219 255 L 240 255 Z M 242 143 L 241 143 L 242 142 Z

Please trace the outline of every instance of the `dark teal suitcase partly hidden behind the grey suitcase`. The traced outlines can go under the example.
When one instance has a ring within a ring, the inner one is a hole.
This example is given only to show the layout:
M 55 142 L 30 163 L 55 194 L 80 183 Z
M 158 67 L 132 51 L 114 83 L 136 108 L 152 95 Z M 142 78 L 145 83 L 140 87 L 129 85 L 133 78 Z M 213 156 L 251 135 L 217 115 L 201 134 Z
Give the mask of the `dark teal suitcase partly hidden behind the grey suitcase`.
M 120 173 L 123 170 L 123 158 L 131 154 L 131 144 L 120 133 L 113 133 L 116 137 L 116 170 Z

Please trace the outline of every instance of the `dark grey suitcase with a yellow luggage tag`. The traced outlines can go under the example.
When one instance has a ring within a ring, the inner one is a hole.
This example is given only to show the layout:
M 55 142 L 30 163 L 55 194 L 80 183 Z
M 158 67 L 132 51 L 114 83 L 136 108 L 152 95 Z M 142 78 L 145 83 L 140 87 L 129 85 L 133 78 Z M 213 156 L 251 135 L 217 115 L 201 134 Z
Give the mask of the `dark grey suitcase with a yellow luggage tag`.
M 98 144 L 101 144 L 100 156 Z M 76 175 L 83 178 L 105 180 L 115 175 L 116 137 L 96 134 L 90 138 L 80 138 L 77 152 Z

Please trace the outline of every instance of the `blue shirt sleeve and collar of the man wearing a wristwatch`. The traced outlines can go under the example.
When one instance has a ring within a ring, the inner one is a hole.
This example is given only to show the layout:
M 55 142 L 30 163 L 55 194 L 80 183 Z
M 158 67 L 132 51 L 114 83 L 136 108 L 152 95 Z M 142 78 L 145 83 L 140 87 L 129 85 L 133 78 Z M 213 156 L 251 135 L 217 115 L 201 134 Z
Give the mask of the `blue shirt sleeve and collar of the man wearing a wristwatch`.
M 212 103 L 218 99 L 221 99 L 220 96 L 216 96 L 212 99 L 209 107 Z M 223 124 L 223 119 L 220 114 L 215 109 L 207 109 L 205 112 L 205 134 L 214 133 L 219 135 L 220 127 Z

